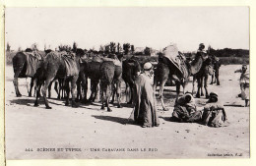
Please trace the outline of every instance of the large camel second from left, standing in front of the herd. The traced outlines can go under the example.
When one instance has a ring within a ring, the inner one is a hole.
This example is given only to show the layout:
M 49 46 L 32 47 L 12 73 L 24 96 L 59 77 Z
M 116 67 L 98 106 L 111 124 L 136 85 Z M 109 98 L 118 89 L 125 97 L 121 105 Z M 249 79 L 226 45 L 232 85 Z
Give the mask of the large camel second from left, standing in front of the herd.
M 76 82 L 79 77 L 80 65 L 78 63 L 78 59 L 80 55 L 75 57 L 75 60 L 70 60 L 67 56 L 72 54 L 68 54 L 67 52 L 55 52 L 52 51 L 48 53 L 43 61 L 43 66 L 41 70 L 37 72 L 37 83 L 36 83 L 36 97 L 34 101 L 34 106 L 38 106 L 38 97 L 39 97 L 39 88 L 42 83 L 44 83 L 42 87 L 42 95 L 44 99 L 44 103 L 46 109 L 51 109 L 49 106 L 48 100 L 46 98 L 46 89 L 49 84 L 56 79 L 64 79 L 65 88 L 67 92 L 66 103 L 65 105 L 69 105 L 69 94 L 70 87 L 69 82 L 71 82 L 71 93 L 72 93 L 72 107 L 78 107 L 75 102 L 75 88 Z M 73 55 L 72 55 L 73 56 Z M 66 58 L 65 58 L 66 57 Z

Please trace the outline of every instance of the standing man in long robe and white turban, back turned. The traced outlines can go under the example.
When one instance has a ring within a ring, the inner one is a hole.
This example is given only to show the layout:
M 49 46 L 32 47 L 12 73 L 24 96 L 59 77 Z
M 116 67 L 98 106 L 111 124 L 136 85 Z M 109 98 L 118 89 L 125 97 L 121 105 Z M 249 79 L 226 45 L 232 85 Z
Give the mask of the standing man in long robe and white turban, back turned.
M 144 64 L 144 73 L 137 77 L 134 85 L 134 111 L 132 119 L 142 128 L 160 126 L 157 101 L 153 89 L 154 69 L 150 62 Z

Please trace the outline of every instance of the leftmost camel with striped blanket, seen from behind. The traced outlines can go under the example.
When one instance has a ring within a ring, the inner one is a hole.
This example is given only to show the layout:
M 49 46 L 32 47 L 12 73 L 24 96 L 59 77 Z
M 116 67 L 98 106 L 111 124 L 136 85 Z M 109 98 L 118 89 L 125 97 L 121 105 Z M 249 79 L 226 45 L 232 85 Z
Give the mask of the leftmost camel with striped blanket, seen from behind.
M 32 86 L 34 81 L 34 74 L 42 65 L 42 55 L 31 49 L 26 49 L 25 52 L 18 52 L 13 57 L 14 68 L 14 86 L 17 97 L 22 96 L 19 90 L 18 78 L 32 78 L 31 89 L 29 96 L 32 96 Z

